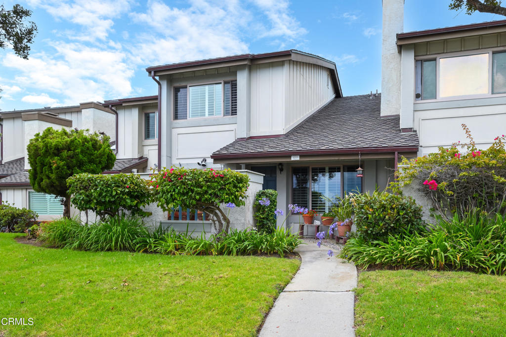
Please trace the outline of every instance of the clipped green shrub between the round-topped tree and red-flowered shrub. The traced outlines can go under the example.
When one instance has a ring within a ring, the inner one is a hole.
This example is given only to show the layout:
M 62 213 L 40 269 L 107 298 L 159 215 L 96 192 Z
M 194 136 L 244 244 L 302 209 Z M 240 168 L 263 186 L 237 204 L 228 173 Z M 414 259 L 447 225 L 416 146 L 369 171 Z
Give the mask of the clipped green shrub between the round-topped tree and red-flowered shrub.
M 135 174 L 75 174 L 67 179 L 72 205 L 100 217 L 131 214 L 147 216 L 142 208 L 152 202 L 148 182 Z

